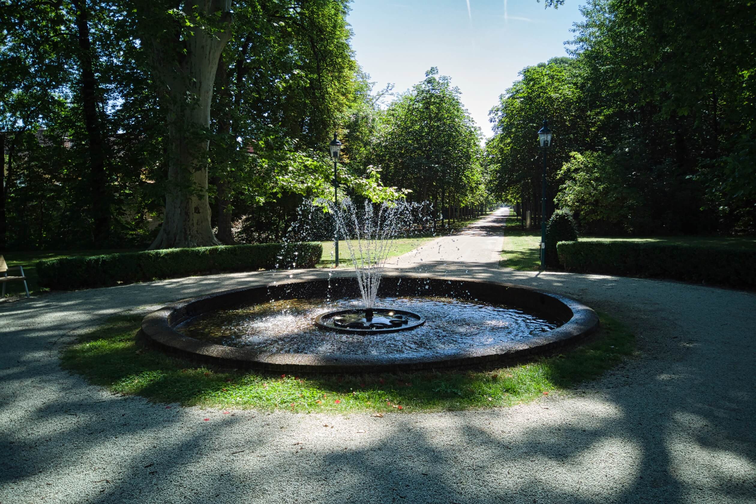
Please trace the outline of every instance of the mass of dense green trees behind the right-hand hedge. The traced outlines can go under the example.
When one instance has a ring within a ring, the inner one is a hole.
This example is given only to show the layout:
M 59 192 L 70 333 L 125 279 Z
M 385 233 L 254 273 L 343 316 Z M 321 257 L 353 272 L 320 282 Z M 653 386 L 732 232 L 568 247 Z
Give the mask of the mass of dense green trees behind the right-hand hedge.
M 556 197 L 584 230 L 756 231 L 754 5 L 590 0 L 581 13 L 572 58 L 525 68 L 491 110 L 491 190 L 540 210 L 548 119 L 547 207 Z

